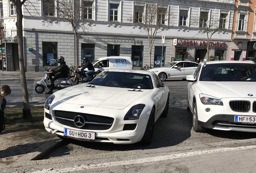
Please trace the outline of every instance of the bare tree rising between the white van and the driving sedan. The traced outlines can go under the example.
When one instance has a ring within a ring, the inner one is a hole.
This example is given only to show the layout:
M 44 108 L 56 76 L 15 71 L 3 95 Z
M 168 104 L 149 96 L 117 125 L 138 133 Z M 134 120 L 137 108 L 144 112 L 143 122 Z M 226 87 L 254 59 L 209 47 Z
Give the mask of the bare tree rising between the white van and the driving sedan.
M 149 40 L 149 66 L 151 66 L 151 54 L 153 44 L 157 33 L 161 32 L 161 28 L 167 27 L 170 13 L 168 5 L 157 5 L 149 2 L 135 6 L 135 14 L 131 21 L 137 23 L 144 31 L 147 32 Z

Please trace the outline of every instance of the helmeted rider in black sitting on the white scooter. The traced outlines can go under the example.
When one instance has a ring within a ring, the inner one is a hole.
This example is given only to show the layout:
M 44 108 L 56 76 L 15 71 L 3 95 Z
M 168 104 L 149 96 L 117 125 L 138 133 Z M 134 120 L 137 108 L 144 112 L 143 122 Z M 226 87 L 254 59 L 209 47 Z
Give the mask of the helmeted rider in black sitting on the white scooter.
M 67 78 L 69 74 L 69 67 L 66 65 L 66 62 L 64 61 L 64 57 L 60 56 L 58 57 L 58 63 L 60 63 L 60 66 L 50 69 L 49 70 L 49 78 L 51 80 L 51 86 L 50 86 L 50 91 L 45 94 L 52 94 L 52 91 L 54 89 L 54 81 L 57 80 L 58 78 Z M 52 76 L 54 76 L 52 78 Z

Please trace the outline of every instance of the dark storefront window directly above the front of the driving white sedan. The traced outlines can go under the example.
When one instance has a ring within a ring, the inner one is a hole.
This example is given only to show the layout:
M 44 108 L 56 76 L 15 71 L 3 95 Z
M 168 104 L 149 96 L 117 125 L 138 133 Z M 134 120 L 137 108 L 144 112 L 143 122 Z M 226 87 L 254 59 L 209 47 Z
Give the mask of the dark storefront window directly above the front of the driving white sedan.
M 165 62 L 166 46 L 155 46 L 154 66 L 162 67 Z

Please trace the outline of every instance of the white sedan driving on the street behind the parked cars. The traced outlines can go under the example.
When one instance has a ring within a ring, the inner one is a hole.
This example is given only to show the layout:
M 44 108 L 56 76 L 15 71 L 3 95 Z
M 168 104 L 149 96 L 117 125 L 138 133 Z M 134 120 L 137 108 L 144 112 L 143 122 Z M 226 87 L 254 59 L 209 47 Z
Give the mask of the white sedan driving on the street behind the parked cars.
M 173 61 L 165 64 L 160 68 L 152 68 L 149 71 L 155 72 L 161 82 L 166 79 L 184 79 L 187 75 L 191 75 L 196 70 L 198 63 L 191 61 Z

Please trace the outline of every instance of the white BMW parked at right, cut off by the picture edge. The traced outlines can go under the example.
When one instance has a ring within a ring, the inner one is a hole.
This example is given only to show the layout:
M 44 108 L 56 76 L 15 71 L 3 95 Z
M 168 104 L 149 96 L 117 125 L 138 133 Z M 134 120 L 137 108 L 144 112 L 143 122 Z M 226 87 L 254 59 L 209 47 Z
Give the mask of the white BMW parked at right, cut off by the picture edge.
M 211 61 L 189 75 L 187 109 L 193 129 L 256 132 L 256 63 Z

